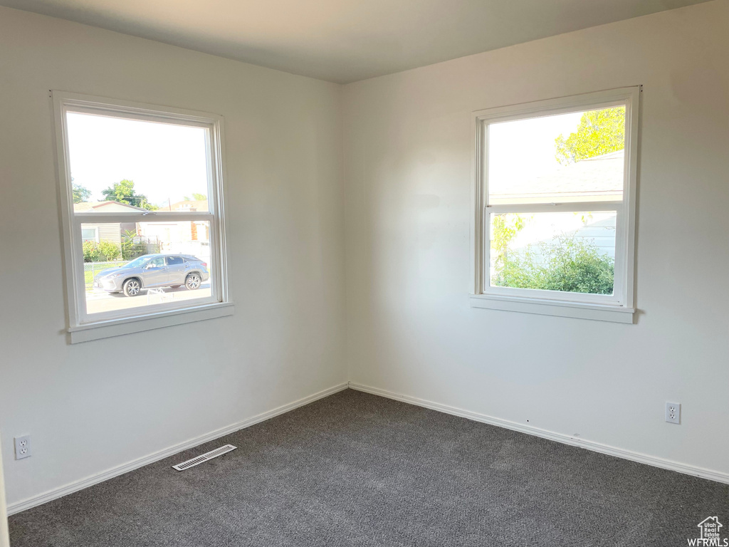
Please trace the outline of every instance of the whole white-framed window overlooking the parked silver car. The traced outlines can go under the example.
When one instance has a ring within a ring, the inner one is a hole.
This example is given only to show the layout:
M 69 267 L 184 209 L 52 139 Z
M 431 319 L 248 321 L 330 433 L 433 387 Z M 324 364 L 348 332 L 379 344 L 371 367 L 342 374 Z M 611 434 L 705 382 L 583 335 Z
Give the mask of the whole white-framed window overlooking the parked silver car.
M 222 118 L 53 102 L 71 343 L 232 314 Z

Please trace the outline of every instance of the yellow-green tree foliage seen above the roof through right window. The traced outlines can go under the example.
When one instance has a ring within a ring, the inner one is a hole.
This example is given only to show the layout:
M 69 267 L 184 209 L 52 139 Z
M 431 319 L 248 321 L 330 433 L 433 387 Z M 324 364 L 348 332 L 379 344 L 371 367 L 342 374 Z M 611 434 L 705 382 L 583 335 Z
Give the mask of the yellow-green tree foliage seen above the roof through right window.
M 573 163 L 625 147 L 625 106 L 589 110 L 582 114 L 577 131 L 555 139 L 559 163 Z

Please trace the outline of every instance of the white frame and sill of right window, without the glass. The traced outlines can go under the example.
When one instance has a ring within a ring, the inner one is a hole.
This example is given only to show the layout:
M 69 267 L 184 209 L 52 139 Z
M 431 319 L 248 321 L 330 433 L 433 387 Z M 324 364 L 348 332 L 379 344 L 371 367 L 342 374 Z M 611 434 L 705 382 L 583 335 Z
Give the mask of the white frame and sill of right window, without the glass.
M 474 216 L 472 222 L 471 306 L 475 308 L 522 311 L 531 314 L 599 319 L 631 323 L 634 308 L 634 257 L 636 178 L 640 86 L 584 93 L 512 106 L 499 106 L 474 112 Z M 625 168 L 622 201 L 583 201 L 580 203 L 490 204 L 488 203 L 488 126 L 513 120 L 583 112 L 625 106 Z M 615 282 L 612 295 L 519 289 L 491 286 L 489 264 L 490 215 L 518 212 L 615 211 Z

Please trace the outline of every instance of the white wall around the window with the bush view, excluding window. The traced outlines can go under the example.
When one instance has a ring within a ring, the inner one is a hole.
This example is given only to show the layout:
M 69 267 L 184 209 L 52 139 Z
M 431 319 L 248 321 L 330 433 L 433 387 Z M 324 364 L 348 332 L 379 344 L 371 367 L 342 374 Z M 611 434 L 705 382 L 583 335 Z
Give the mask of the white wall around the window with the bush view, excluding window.
M 347 85 L 349 379 L 728 473 L 728 28 L 714 1 Z M 638 84 L 637 323 L 471 309 L 470 113 Z

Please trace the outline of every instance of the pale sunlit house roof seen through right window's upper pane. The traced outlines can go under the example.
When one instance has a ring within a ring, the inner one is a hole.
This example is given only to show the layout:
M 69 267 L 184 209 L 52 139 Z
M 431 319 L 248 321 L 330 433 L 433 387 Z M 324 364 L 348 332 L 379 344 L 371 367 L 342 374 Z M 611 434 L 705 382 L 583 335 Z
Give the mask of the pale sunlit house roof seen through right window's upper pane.
M 541 176 L 509 179 L 494 185 L 494 203 L 559 203 L 564 201 L 620 201 L 623 194 L 623 150 L 555 167 Z

